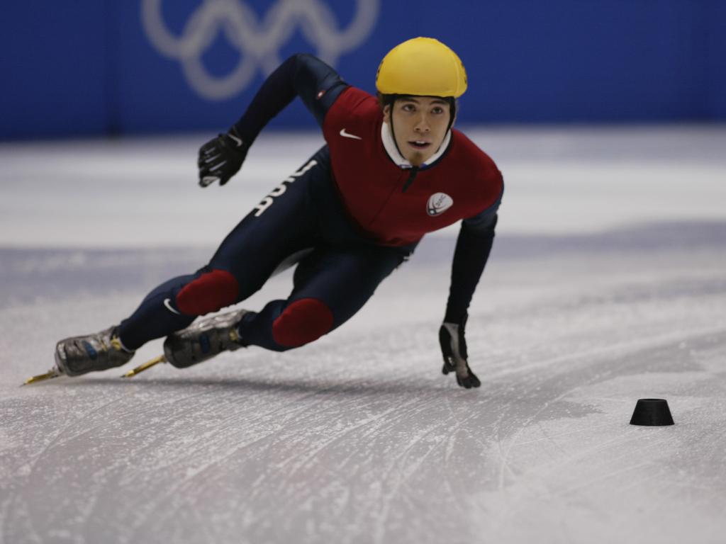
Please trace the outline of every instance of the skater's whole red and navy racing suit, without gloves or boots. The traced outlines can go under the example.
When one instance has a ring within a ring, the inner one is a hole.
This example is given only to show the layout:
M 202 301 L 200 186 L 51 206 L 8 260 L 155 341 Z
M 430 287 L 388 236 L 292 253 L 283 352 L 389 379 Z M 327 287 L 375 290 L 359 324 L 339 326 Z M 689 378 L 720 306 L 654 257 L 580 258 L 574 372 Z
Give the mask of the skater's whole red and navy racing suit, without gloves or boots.
M 434 157 L 412 170 L 387 136 L 378 101 L 307 54 L 290 57 L 269 76 L 234 128 L 250 145 L 295 96 L 327 144 L 242 219 L 208 265 L 147 295 L 119 328 L 129 349 L 245 300 L 294 255 L 303 257 L 293 291 L 246 314 L 239 331 L 245 345 L 277 351 L 305 345 L 362 308 L 426 233 L 457 221 L 444 321 L 464 318 L 492 249 L 502 198 L 492 159 L 452 129 Z

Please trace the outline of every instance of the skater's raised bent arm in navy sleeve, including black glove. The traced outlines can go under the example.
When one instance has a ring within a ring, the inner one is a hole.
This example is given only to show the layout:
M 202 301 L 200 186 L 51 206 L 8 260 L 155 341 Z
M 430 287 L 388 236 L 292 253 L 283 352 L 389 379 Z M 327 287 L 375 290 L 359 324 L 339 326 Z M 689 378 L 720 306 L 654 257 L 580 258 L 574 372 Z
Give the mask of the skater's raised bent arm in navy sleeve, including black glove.
M 333 68 L 310 54 L 295 54 L 280 65 L 262 84 L 244 115 L 229 132 L 219 134 L 199 150 L 199 184 L 219 181 L 224 185 L 244 162 L 248 149 L 269 120 L 295 96 L 322 126 L 327 110 L 348 84 Z

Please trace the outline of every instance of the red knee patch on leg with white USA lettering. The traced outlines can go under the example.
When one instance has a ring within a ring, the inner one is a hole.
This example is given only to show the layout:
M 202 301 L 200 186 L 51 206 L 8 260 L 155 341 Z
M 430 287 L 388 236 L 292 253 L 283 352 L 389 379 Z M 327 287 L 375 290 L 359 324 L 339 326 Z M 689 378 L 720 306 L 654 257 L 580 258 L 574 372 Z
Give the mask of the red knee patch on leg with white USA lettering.
M 203 316 L 233 304 L 240 285 L 231 273 L 224 270 L 205 272 L 190 281 L 176 295 L 176 308 L 187 316 Z

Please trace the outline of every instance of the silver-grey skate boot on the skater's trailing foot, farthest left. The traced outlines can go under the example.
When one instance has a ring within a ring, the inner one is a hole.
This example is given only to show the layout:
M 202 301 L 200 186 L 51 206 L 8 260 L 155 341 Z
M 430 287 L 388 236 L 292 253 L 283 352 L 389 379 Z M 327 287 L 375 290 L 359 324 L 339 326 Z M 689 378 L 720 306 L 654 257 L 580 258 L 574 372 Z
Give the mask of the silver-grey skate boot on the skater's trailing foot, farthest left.
M 96 334 L 71 337 L 55 345 L 55 364 L 61 374 L 78 376 L 126 364 L 134 356 L 121 345 L 116 326 Z

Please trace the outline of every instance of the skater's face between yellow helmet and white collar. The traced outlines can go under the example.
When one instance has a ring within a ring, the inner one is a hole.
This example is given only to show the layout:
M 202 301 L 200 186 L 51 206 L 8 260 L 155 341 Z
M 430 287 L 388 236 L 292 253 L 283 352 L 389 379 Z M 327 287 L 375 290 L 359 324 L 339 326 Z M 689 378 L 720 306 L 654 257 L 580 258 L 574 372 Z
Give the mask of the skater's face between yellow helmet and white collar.
M 383 120 L 393 120 L 399 151 L 412 165 L 421 165 L 439 151 L 449 126 L 451 106 L 436 96 L 409 96 L 383 108 Z

